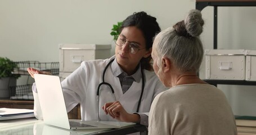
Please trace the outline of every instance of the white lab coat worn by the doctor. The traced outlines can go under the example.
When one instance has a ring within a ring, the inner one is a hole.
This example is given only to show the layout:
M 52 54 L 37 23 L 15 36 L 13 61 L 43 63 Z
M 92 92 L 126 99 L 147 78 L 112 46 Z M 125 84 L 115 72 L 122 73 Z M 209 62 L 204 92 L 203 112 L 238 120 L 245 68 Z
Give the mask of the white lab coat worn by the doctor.
M 97 120 L 97 88 L 98 84 L 102 82 L 102 74 L 106 65 L 112 59 L 115 59 L 115 56 L 106 60 L 84 61 L 77 70 L 62 81 L 61 84 L 68 112 L 80 103 L 82 120 Z M 164 91 L 165 87 L 159 81 L 158 77 L 156 77 L 154 72 L 147 70 L 143 71 L 145 74 L 145 88 L 138 113 L 145 113 L 148 115 L 151 103 L 155 96 Z M 110 65 L 105 73 L 105 82 L 111 84 L 115 91 L 114 95 L 116 100 L 120 101 L 124 109 L 128 113 L 136 113 L 138 100 L 141 95 L 142 79 L 140 80 L 140 83 L 133 82 L 128 91 L 123 94 L 119 78 L 113 75 Z M 33 86 L 33 89 L 35 89 L 35 86 Z M 33 95 L 35 102 L 35 116 L 38 119 L 42 119 L 38 95 L 35 92 L 33 92 Z M 100 120 L 115 120 L 109 115 L 106 115 L 101 109 L 106 102 L 111 101 L 114 101 L 114 99 L 110 88 L 106 88 L 106 85 L 102 86 L 100 90 L 100 105 L 98 106 Z

